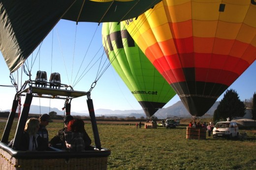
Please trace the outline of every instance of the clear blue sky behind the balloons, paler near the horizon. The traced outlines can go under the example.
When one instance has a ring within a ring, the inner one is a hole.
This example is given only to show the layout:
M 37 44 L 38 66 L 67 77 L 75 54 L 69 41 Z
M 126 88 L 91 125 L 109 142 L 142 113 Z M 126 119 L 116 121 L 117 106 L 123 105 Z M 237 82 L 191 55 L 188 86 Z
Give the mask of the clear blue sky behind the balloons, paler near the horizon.
M 92 58 L 94 58 L 93 62 L 91 62 Z M 96 62 L 96 60 L 98 61 Z M 108 63 L 102 48 L 101 24 L 99 26 L 96 23 L 78 23 L 76 25 L 74 22 L 61 20 L 44 39 L 40 50 L 38 48 L 35 49 L 27 61 L 30 68 L 34 61 L 31 72 L 32 80 L 34 80 L 38 70 L 46 71 L 48 80 L 51 73 L 57 72 L 61 74 L 63 84 L 71 85 L 76 91 L 89 91 L 96 79 L 98 68 L 102 68 L 102 63 Z M 88 66 L 90 62 L 91 64 Z M 81 63 L 83 63 L 82 66 Z M 80 66 L 81 69 L 79 71 Z M 89 70 L 91 67 L 92 69 Z M 105 67 L 106 64 L 103 65 L 103 68 Z M 88 69 L 84 70 L 84 68 Z M 0 71 L 0 85 L 11 85 L 9 70 L 1 54 Z M 76 81 L 74 80 L 78 79 L 75 78 L 76 75 L 79 77 L 83 72 L 86 74 L 83 74 L 81 80 L 75 83 Z M 14 75 L 19 77 L 19 81 L 17 81 L 19 87 L 29 79 L 27 75 L 22 73 L 21 69 L 15 72 Z M 253 94 L 256 92 L 256 63 L 254 62 L 230 88 L 236 90 L 241 100 L 253 97 Z M 11 109 L 15 93 L 15 88 L 0 87 L 0 110 Z M 95 110 L 142 109 L 111 66 L 99 78 L 91 94 Z M 218 100 L 222 98 L 223 95 Z M 73 99 L 71 101 L 71 111 L 83 112 L 88 110 L 86 99 L 87 97 Z M 24 100 L 25 97 L 22 97 L 22 103 L 24 103 Z M 176 95 L 164 107 L 171 106 L 179 100 L 179 97 Z M 56 107 L 61 110 L 64 106 L 64 100 L 34 97 L 32 104 Z

